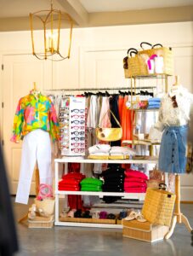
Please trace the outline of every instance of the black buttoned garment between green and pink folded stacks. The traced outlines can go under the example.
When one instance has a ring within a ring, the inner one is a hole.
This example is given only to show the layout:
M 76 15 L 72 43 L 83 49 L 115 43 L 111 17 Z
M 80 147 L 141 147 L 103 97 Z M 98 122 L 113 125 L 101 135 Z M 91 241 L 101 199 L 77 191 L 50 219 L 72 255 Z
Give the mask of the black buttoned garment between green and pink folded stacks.
M 123 192 L 124 184 L 124 169 L 120 165 L 111 165 L 105 172 L 104 177 L 104 192 Z

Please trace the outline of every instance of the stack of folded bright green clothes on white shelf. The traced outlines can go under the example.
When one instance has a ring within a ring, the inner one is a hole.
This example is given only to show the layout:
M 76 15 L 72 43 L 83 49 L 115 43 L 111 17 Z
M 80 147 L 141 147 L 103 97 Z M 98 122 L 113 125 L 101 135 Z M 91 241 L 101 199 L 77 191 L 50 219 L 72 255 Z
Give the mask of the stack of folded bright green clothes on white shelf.
M 102 191 L 103 182 L 95 177 L 85 177 L 81 182 L 82 191 Z

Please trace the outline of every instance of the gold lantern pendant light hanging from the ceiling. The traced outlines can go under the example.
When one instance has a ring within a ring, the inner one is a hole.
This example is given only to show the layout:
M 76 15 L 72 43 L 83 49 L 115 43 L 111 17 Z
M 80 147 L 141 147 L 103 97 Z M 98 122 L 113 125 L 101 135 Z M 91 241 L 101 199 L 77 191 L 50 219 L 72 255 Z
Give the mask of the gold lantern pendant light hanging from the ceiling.
M 65 26 L 67 25 L 68 27 L 68 29 L 64 32 L 65 44 L 62 42 L 63 38 L 61 39 L 60 35 L 61 24 L 63 23 L 65 23 Z M 73 26 L 73 20 L 71 19 L 70 15 L 61 12 L 58 9 L 54 9 L 53 2 L 51 1 L 50 10 L 40 10 L 33 14 L 30 14 L 30 25 L 32 54 L 35 55 L 37 59 L 62 61 L 70 58 L 71 34 Z M 37 29 L 43 30 L 42 38 L 38 34 L 38 37 L 36 38 L 36 44 L 34 26 L 36 26 Z M 40 40 L 42 41 L 42 43 L 39 42 Z M 35 49 L 35 45 L 37 44 L 39 45 L 38 52 Z

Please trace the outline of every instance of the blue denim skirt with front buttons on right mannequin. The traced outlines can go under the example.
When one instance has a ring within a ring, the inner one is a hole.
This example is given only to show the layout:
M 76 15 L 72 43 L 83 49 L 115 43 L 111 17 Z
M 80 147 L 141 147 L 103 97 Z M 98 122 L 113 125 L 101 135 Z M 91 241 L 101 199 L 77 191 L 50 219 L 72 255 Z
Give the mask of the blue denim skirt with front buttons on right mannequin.
M 185 173 L 187 131 L 188 125 L 165 128 L 159 154 L 160 171 Z

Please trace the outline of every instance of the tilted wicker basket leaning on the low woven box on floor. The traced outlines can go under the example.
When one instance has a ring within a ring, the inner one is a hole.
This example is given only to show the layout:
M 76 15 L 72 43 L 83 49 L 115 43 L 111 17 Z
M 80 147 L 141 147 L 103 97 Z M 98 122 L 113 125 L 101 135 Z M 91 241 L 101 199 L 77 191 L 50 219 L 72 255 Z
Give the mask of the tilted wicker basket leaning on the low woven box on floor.
M 148 188 L 142 209 L 144 218 L 151 224 L 167 225 L 171 223 L 175 195 L 162 189 Z

